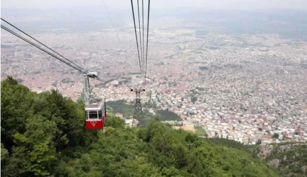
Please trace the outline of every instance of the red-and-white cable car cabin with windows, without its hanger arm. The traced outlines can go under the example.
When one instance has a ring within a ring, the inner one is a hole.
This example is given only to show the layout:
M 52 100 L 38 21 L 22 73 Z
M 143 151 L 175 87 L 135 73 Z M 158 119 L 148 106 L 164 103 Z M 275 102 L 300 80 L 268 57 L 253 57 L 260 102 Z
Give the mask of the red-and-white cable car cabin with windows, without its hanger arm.
M 85 106 L 85 128 L 103 129 L 106 119 L 106 102 L 103 99 L 90 99 Z

